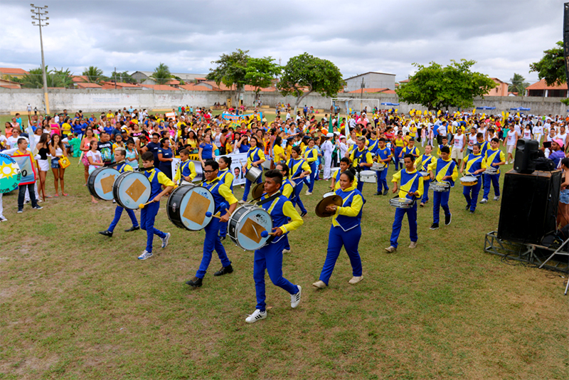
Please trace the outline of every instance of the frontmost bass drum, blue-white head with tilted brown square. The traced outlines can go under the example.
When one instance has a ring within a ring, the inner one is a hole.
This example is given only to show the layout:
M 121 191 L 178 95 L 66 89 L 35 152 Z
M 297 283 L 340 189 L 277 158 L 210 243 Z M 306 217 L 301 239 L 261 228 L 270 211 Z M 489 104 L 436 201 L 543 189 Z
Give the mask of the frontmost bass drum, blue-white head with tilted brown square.
M 227 234 L 235 245 L 244 250 L 257 250 L 265 246 L 271 236 L 263 238 L 263 231 L 272 232 L 272 218 L 259 206 L 245 204 L 229 217 Z

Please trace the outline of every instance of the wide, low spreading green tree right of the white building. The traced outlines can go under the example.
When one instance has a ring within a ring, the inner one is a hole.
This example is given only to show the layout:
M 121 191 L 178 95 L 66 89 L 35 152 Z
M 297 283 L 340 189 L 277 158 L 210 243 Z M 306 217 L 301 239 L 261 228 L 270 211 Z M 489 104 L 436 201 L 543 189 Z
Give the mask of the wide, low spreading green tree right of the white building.
M 420 104 L 429 110 L 448 107 L 472 107 L 474 97 L 482 96 L 496 87 L 494 80 L 482 73 L 470 70 L 474 60 L 451 60 L 442 67 L 431 62 L 430 66 L 413 63 L 418 68 L 408 83 L 400 84 L 395 90 L 399 100 L 409 104 Z

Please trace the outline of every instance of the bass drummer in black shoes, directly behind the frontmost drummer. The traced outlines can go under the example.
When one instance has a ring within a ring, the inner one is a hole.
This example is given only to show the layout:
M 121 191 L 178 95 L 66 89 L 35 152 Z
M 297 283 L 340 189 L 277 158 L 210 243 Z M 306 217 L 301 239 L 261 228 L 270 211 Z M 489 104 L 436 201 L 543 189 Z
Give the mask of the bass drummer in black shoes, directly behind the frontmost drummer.
M 215 159 L 208 159 L 203 165 L 203 176 L 205 176 L 206 179 L 203 181 L 202 186 L 211 191 L 213 199 L 216 201 L 215 213 L 223 211 L 226 204 L 229 205 L 229 209 L 228 213 L 224 213 L 223 216 L 220 216 L 220 218 L 211 218 L 211 221 L 205 228 L 206 238 L 203 241 L 203 257 L 201 259 L 200 268 L 196 272 L 196 277 L 186 281 L 186 284 L 190 285 L 191 287 L 201 287 L 203 283 L 203 277 L 206 275 L 206 272 L 208 270 L 209 263 L 211 261 L 211 254 L 213 253 L 214 249 L 218 253 L 222 267 L 216 273 L 213 273 L 213 275 L 221 276 L 228 273 L 233 273 L 233 267 L 231 266 L 231 262 L 227 257 L 227 253 L 225 253 L 225 248 L 223 248 L 223 244 L 221 243 L 218 232 L 219 223 L 227 223 L 229 216 L 233 213 L 233 211 L 235 211 L 235 207 L 237 206 L 237 199 L 231 192 L 229 186 L 227 186 L 225 182 L 219 179 L 218 173 L 219 164 Z

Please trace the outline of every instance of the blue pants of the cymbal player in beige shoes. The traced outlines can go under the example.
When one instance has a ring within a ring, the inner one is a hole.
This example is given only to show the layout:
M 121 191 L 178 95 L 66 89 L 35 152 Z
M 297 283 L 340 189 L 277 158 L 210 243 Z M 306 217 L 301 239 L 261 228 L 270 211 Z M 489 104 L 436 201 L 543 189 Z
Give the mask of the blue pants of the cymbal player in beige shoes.
M 344 231 L 341 227 L 330 227 L 330 233 L 328 235 L 328 251 L 326 252 L 326 260 L 324 260 L 324 266 L 322 267 L 319 280 L 328 285 L 328 281 L 330 280 L 334 266 L 336 266 L 336 260 L 338 260 L 342 246 L 344 246 L 348 257 L 350 258 L 352 275 L 356 277 L 361 276 L 361 258 L 358 253 L 360 238 L 360 226 L 352 228 L 349 231 Z

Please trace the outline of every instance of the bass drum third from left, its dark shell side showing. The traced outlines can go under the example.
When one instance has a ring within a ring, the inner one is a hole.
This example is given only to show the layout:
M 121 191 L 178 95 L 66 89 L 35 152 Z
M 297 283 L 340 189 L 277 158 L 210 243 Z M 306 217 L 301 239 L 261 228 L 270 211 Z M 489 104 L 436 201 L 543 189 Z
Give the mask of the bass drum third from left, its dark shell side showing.
M 211 222 L 216 210 L 216 201 L 211 191 L 193 184 L 179 186 L 172 191 L 166 204 L 166 213 L 174 226 L 188 231 L 200 231 Z

